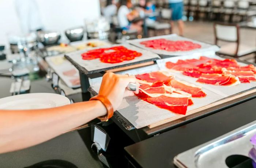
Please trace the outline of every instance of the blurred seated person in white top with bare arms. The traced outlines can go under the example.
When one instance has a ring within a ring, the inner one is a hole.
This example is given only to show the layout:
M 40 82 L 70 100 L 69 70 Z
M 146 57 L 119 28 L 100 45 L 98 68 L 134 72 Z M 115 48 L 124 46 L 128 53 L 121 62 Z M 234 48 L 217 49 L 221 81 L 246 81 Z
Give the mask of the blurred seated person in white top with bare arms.
M 139 17 L 139 12 L 132 10 L 132 7 L 131 0 L 120 0 L 117 12 L 118 23 L 122 30 L 137 30 L 138 34 L 141 34 L 143 22 L 140 20 L 132 23 L 132 20 Z

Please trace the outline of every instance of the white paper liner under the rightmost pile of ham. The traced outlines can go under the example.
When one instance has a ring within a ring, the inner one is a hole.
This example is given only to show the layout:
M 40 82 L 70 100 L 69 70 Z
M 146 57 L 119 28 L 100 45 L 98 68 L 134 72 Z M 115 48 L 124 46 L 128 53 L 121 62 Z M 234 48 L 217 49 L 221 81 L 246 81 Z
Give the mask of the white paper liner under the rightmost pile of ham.
M 169 70 L 165 66 L 165 63 L 169 62 L 169 61 L 175 63 L 178 60 L 186 60 L 186 59 L 193 59 L 193 58 L 198 59 L 198 58 L 200 58 L 200 56 L 216 58 L 216 59 L 219 59 L 219 60 L 224 59 L 224 58 L 221 58 L 219 56 L 216 56 L 215 54 L 204 53 L 204 54 L 192 54 L 192 55 L 187 55 L 187 56 L 178 56 L 178 57 L 171 57 L 171 58 L 166 58 L 166 59 L 162 59 L 162 60 L 157 60 L 157 64 L 159 66 L 159 69 L 161 69 L 161 70 L 167 70 L 172 75 L 177 76 L 180 79 L 183 79 L 185 81 L 188 81 L 189 83 L 193 83 L 195 85 L 206 88 L 206 89 L 208 89 L 208 90 L 210 90 L 214 93 L 217 93 L 221 96 L 224 96 L 224 97 L 228 97 L 228 96 L 234 95 L 236 93 L 240 93 L 242 91 L 246 91 L 248 89 L 256 87 L 256 82 L 255 81 L 251 81 L 251 83 L 241 83 L 241 84 L 238 84 L 238 85 L 235 85 L 235 86 L 221 86 L 221 85 L 211 85 L 211 84 L 198 83 L 198 82 L 196 82 L 197 78 L 182 75 L 182 72 Z M 242 62 L 238 62 L 238 64 L 241 65 L 241 66 L 248 65 L 248 64 L 245 64 L 245 63 L 242 63 Z

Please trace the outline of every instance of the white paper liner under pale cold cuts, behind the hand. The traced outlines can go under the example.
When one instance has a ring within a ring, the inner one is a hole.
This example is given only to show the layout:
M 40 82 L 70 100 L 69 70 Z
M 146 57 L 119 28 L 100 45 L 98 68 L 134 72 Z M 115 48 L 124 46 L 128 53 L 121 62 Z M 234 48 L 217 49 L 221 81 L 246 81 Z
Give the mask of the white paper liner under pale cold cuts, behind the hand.
M 64 81 L 64 83 L 69 87 L 69 88 L 78 88 L 81 85 L 73 85 L 70 80 L 72 79 L 80 79 L 79 77 L 79 71 L 76 69 L 74 65 L 72 65 L 68 60 L 64 60 L 62 64 L 56 65 L 54 62 L 52 62 L 53 58 L 64 58 L 64 54 L 60 54 L 57 56 L 52 56 L 52 57 L 46 57 L 45 61 L 48 63 L 48 65 L 54 70 L 55 73 Z M 63 75 L 63 72 L 72 70 L 74 69 L 76 71 L 76 74 L 73 76 L 65 76 Z

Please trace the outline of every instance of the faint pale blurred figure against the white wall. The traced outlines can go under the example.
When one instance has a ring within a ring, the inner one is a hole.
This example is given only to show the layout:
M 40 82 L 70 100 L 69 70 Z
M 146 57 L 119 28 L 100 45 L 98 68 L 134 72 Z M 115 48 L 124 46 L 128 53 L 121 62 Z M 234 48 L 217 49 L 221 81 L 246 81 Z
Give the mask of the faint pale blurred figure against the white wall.
M 28 34 L 43 28 L 36 0 L 15 0 L 15 9 L 22 33 Z

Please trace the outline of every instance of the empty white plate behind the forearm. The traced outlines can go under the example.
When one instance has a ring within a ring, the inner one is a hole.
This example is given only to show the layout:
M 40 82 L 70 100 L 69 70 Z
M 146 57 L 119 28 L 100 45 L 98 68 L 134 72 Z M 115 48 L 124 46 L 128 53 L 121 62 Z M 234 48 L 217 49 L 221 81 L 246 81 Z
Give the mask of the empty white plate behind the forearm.
M 31 110 L 70 104 L 68 98 L 54 93 L 28 93 L 0 99 L 0 109 Z

